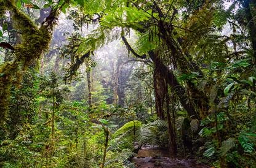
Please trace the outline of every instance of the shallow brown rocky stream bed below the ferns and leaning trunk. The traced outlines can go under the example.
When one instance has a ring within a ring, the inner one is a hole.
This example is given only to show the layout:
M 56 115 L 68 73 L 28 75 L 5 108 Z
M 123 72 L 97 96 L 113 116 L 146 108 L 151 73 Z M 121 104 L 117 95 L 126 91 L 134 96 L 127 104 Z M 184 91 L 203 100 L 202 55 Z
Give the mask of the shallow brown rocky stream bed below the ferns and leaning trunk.
M 171 159 L 167 150 L 156 146 L 143 146 L 137 156 L 132 158 L 138 168 L 203 168 L 209 167 L 198 164 L 195 159 Z

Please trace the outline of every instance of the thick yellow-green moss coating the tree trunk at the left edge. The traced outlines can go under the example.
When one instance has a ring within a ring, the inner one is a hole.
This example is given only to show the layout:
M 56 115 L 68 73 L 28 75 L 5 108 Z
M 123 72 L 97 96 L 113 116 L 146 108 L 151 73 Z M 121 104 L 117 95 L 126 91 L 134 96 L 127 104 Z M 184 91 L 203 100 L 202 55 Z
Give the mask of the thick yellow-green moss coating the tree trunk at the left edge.
M 9 106 L 10 86 L 22 80 L 21 71 L 26 70 L 31 62 L 38 59 L 42 52 L 49 47 L 53 26 L 38 29 L 36 25 L 24 13 L 20 12 L 13 1 L 0 0 L 0 14 L 5 10 L 14 13 L 14 27 L 21 32 L 21 43 L 16 45 L 15 60 L 12 63 L 3 64 L 0 67 L 0 127 L 6 121 Z M 22 66 L 18 66 L 22 65 Z

